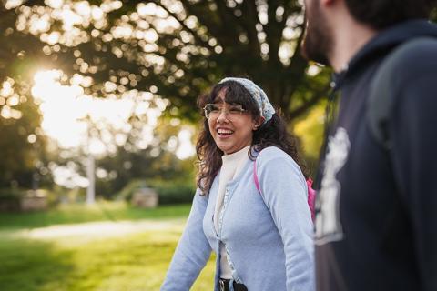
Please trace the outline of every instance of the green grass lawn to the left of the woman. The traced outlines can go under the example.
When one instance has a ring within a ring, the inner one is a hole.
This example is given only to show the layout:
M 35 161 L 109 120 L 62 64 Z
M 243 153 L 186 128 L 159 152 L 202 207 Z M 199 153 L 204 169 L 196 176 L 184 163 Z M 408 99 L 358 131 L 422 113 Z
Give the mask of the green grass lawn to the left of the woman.
M 104 207 L 105 210 L 100 208 Z M 100 210 L 99 210 L 100 209 Z M 32 227 L 86 221 L 185 218 L 189 206 L 138 210 L 106 204 L 94 208 L 61 207 L 46 213 L 0 216 L 0 290 L 64 291 L 158 290 L 183 226 L 122 236 L 23 236 Z M 76 217 L 80 216 L 80 217 Z M 7 224 L 10 223 L 10 225 Z M 85 226 L 85 225 L 83 225 Z M 192 290 L 211 290 L 214 257 Z

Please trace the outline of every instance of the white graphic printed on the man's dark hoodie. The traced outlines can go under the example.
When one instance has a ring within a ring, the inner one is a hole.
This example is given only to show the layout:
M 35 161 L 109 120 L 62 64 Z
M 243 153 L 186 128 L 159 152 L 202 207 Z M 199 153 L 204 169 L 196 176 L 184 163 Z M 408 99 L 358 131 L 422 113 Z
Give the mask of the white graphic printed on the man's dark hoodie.
M 317 196 L 316 207 L 316 244 L 324 245 L 332 241 L 339 241 L 343 237 L 340 224 L 340 183 L 336 176 L 346 163 L 351 143 L 346 130 L 342 127 L 328 142 L 325 156 L 325 168 L 321 189 Z

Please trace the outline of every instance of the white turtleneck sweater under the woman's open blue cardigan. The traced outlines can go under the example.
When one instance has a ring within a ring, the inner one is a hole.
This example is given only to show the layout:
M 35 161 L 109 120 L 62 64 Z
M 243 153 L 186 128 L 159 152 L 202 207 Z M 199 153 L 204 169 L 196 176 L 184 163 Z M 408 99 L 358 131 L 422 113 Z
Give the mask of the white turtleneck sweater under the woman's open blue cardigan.
M 230 155 L 224 155 L 221 157 L 223 163 L 220 168 L 219 193 L 217 196 L 216 208 L 214 211 L 214 226 L 217 233 L 219 233 L 219 217 L 220 212 L 223 208 L 226 185 L 229 181 L 233 180 L 237 175 L 239 175 L 241 168 L 249 159 L 249 148 L 250 146 L 246 146 L 240 149 L 238 152 Z M 228 258 L 226 256 L 226 249 L 222 243 L 220 243 L 220 255 L 220 277 L 223 279 L 231 279 L 232 274 L 229 267 Z

